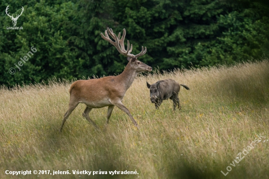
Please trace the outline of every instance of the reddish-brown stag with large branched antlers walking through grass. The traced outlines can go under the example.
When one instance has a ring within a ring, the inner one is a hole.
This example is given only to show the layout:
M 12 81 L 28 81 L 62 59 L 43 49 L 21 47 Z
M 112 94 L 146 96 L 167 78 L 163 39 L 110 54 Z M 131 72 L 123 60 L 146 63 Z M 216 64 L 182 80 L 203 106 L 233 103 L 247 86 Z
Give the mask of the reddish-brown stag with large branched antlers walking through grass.
M 115 42 L 110 39 L 108 32 Z M 130 47 L 129 41 L 127 41 L 127 50 L 125 50 L 125 34 L 125 29 L 123 29 L 122 38 L 119 39 L 120 33 L 118 36 L 116 36 L 111 28 L 108 28 L 108 30 L 105 31 L 106 36 L 101 33 L 103 39 L 114 45 L 120 54 L 127 56 L 129 63 L 125 67 L 124 71 L 118 76 L 107 76 L 99 79 L 78 80 L 74 82 L 69 90 L 69 107 L 68 111 L 65 113 L 60 132 L 62 131 L 68 116 L 79 103 L 86 104 L 87 107 L 82 115 L 97 129 L 97 125 L 89 117 L 89 112 L 93 108 L 103 108 L 106 106 L 108 106 L 106 125 L 109 123 L 109 118 L 114 106 L 116 106 L 122 111 L 126 112 L 133 121 L 134 126 L 138 127 L 129 110 L 122 104 L 122 100 L 137 74 L 143 71 L 152 71 L 152 67 L 149 67 L 148 65 L 137 60 L 138 57 L 146 53 L 146 47 L 144 49 L 142 46 L 142 51 L 137 55 L 133 55 L 131 54 L 133 45 Z

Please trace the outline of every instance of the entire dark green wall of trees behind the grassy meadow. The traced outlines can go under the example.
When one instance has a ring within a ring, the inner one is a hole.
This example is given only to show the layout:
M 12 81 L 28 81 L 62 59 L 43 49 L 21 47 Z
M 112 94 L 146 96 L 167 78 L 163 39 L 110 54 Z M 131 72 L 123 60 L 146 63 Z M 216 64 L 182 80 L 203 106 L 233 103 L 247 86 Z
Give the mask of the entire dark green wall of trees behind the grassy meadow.
M 24 12 L 7 30 L 11 14 Z M 269 14 L 263 0 L 30 0 L 1 1 L 0 84 L 13 86 L 56 78 L 121 73 L 125 57 L 100 33 L 127 31 L 134 54 L 152 67 L 214 66 L 268 57 Z M 19 63 L 31 46 L 37 52 Z M 15 74 L 8 72 L 10 67 Z

